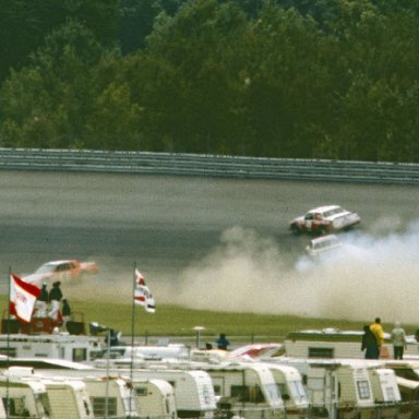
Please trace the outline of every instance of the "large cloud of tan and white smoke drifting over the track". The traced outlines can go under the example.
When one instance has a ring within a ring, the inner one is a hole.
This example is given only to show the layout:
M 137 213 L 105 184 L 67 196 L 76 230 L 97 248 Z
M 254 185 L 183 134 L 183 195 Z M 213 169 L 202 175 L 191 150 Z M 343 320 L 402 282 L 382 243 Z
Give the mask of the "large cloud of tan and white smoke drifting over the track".
M 416 322 L 419 224 L 403 235 L 340 237 L 339 252 L 290 266 L 274 240 L 228 229 L 170 295 L 195 309 Z

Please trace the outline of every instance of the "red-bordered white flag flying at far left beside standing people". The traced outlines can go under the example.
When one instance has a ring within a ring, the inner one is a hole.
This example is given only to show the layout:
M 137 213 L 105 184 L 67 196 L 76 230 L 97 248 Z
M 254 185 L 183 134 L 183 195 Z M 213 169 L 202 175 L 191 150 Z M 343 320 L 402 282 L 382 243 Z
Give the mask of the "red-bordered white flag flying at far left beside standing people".
M 16 275 L 10 275 L 10 313 L 23 322 L 29 323 L 34 311 L 36 298 L 40 289 L 35 285 L 25 283 Z

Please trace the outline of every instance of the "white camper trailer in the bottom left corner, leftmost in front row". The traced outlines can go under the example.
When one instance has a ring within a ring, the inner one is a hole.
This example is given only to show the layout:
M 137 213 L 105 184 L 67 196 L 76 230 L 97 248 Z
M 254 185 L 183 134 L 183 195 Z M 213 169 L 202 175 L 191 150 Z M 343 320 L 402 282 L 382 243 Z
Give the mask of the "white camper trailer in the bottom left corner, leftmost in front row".
M 25 373 L 27 374 L 27 372 Z M 35 417 L 39 419 L 50 418 L 50 405 L 48 394 L 44 384 L 37 379 L 22 379 L 21 375 L 0 378 L 1 408 L 0 418 Z M 5 415 L 5 407 L 9 414 Z

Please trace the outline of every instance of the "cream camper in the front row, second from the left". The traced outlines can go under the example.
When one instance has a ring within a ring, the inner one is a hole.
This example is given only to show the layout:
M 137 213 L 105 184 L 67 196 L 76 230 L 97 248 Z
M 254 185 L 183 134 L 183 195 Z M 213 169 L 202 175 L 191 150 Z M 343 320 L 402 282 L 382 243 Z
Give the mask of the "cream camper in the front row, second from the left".
M 86 385 L 80 380 L 41 379 L 48 393 L 51 419 L 93 419 Z

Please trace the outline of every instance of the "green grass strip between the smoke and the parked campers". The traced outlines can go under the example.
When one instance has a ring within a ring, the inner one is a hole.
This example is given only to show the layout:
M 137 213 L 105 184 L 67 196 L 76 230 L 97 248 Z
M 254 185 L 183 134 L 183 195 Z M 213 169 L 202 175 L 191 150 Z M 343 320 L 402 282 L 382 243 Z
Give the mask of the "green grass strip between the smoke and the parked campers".
M 7 316 L 7 298 L 0 297 L 3 316 Z M 335 327 L 342 331 L 362 331 L 366 321 L 347 321 L 336 319 L 313 319 L 296 315 L 254 314 L 219 312 L 208 310 L 192 310 L 179 306 L 159 304 L 155 313 L 147 313 L 143 307 L 112 302 L 88 302 L 72 300 L 71 307 L 74 320 L 98 322 L 124 336 L 131 335 L 132 313 L 134 312 L 134 332 L 136 336 L 194 336 L 195 326 L 205 330 L 202 336 L 216 336 L 224 332 L 228 336 L 242 336 L 249 342 L 282 342 L 285 336 L 295 331 Z M 393 324 L 383 323 L 385 331 L 391 331 Z M 414 334 L 415 326 L 404 325 L 406 333 Z M 88 331 L 88 327 L 87 327 Z

